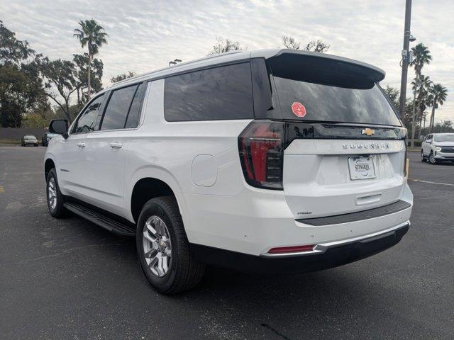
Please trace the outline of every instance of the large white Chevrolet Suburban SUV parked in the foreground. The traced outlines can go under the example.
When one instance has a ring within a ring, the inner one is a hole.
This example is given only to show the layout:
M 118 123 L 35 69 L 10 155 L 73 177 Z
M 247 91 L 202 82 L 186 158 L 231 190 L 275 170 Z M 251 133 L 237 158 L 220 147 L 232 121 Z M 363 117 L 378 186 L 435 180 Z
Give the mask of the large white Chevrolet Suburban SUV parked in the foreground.
M 136 237 L 148 281 L 194 287 L 206 264 L 316 271 L 409 229 L 406 130 L 384 72 L 295 50 L 230 52 L 96 94 L 53 120 L 48 208 Z

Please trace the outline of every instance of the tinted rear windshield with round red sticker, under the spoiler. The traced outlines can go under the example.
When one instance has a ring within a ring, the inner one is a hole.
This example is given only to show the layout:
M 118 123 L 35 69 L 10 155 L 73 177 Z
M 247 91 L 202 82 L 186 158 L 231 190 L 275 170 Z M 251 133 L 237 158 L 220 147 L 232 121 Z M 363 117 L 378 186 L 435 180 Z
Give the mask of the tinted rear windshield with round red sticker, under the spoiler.
M 271 65 L 281 107 L 270 113 L 272 118 L 401 126 L 377 84 L 360 73 L 335 68 L 317 72 L 315 64 L 307 70 L 301 64 L 289 72 L 279 66 Z

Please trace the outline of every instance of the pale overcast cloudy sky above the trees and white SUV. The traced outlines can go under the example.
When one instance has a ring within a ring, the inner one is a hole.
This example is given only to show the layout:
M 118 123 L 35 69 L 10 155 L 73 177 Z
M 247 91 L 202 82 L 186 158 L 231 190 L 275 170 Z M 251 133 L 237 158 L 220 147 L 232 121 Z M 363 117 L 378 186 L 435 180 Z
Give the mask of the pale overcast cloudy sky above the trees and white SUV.
M 448 88 L 436 120 L 454 120 L 454 2 L 414 0 L 411 32 L 433 62 L 423 69 Z M 322 39 L 329 53 L 375 64 L 387 72 L 385 86 L 399 86 L 404 0 L 282 1 L 106 1 L 0 0 L 0 20 L 18 39 L 50 59 L 71 59 L 82 48 L 72 33 L 78 21 L 94 18 L 109 33 L 101 48 L 104 86 L 112 75 L 138 74 L 170 60 L 203 57 L 216 36 L 249 50 L 278 47 L 282 35 L 302 44 Z M 414 77 L 413 69 L 409 78 Z M 411 96 L 410 90 L 407 96 Z

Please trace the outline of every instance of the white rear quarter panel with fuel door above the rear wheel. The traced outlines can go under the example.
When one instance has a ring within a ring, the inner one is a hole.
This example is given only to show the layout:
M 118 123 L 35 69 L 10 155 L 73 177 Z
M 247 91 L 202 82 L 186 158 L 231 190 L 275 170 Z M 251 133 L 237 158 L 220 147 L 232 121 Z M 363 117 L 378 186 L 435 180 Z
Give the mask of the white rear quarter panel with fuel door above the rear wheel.
M 128 142 L 125 205 L 131 207 L 137 181 L 145 177 L 160 179 L 177 196 L 184 225 L 190 231 L 190 207 L 186 205 L 185 196 L 235 196 L 244 188 L 238 135 L 250 120 L 167 122 L 163 99 L 164 80 L 148 83 L 143 123 Z M 194 165 L 194 159 L 200 155 L 204 155 L 203 160 Z M 203 171 L 206 159 L 213 159 L 207 164 L 209 171 Z M 133 220 L 131 212 L 127 218 Z

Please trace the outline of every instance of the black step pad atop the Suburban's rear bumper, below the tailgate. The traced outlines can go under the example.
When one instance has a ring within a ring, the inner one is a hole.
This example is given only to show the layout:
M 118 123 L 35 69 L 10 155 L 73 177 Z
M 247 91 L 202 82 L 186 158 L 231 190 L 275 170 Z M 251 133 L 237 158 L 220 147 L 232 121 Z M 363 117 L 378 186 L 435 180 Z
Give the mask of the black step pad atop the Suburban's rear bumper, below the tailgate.
M 355 222 L 360 220 L 368 220 L 370 218 L 380 217 L 384 215 L 394 214 L 411 207 L 411 204 L 404 200 L 398 200 L 397 202 L 384 205 L 379 208 L 373 208 L 369 210 L 362 210 L 358 212 L 350 212 L 348 214 L 333 215 L 326 217 L 314 217 L 314 218 L 300 218 L 297 222 L 304 223 L 305 225 L 338 225 L 340 223 Z

